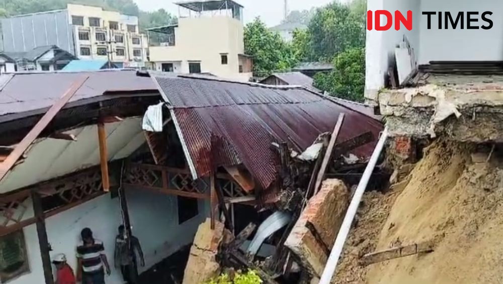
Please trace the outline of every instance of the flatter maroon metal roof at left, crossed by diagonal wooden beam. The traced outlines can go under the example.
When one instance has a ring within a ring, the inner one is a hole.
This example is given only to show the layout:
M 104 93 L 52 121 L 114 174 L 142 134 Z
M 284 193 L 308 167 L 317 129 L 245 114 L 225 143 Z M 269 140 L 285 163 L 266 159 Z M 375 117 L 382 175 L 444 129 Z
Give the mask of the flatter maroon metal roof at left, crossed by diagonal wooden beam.
M 89 99 L 109 100 L 117 95 L 105 92 L 157 91 L 149 78 L 136 76 L 134 70 L 106 70 L 96 72 L 16 73 L 0 89 L 0 122 L 42 113 L 61 97 L 77 78 L 88 75 L 65 108 L 88 103 Z M 6 77 L 7 78 L 7 77 Z M 1 87 L 1 86 L 0 86 Z

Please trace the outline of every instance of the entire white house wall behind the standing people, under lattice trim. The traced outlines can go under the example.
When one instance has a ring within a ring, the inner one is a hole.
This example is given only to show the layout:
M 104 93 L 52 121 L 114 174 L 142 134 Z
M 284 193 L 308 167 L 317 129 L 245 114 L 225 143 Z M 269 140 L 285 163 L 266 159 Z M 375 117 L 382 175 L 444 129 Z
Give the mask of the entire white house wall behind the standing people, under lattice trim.
M 177 198 L 143 190 L 127 191 L 129 214 L 133 234 L 140 240 L 145 254 L 143 272 L 155 263 L 171 255 L 193 241 L 200 223 L 209 216 L 208 201 L 199 201 L 199 215 L 185 223 L 178 224 Z M 31 201 L 24 219 L 33 217 Z M 119 199 L 103 195 L 46 219 L 47 237 L 51 245 L 51 256 L 64 253 L 68 264 L 75 270 L 75 248 L 80 241 L 80 231 L 89 227 L 94 236 L 104 242 L 112 274 L 106 276 L 107 284 L 122 284 L 120 269 L 114 267 L 114 248 L 117 227 L 122 217 Z M 30 272 L 10 281 L 12 284 L 41 283 L 44 270 L 40 256 L 40 246 L 36 225 L 24 229 Z M 53 267 L 54 269 L 54 267 Z M 55 272 L 55 271 L 53 271 Z

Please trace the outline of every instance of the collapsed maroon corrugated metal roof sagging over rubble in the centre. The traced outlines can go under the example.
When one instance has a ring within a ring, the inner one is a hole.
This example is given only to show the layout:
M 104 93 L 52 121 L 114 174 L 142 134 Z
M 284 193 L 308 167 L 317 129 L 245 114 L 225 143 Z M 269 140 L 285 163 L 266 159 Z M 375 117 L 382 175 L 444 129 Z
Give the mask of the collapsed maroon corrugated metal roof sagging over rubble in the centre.
M 346 113 L 338 141 L 367 131 L 377 139 L 382 124 L 303 87 L 273 87 L 219 79 L 152 75 L 171 113 L 194 178 L 219 166 L 243 164 L 263 188 L 278 177 L 272 143 L 305 150 L 331 132 Z M 356 149 L 369 157 L 375 142 Z

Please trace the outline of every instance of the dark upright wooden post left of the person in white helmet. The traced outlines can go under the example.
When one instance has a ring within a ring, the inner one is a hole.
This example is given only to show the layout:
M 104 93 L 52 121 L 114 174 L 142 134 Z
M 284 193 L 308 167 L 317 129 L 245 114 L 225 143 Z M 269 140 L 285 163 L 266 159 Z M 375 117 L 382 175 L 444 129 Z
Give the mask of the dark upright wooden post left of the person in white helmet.
M 52 278 L 51 256 L 49 255 L 49 241 L 47 239 L 47 231 L 45 229 L 44 210 L 42 208 L 42 201 L 40 195 L 32 191 L 31 197 L 33 201 L 33 211 L 37 220 L 37 235 L 38 244 L 40 246 L 40 256 L 42 257 L 42 267 L 44 269 L 44 278 L 46 284 L 54 284 Z

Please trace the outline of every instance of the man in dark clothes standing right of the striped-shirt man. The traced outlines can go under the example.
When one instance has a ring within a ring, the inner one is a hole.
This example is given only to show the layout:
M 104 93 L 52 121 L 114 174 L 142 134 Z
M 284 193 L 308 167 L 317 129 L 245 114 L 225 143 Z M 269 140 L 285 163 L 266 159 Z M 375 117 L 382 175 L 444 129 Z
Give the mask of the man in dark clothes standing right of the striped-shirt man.
M 135 252 L 140 256 L 140 265 L 145 266 L 140 241 L 135 236 L 128 238 L 124 225 L 120 225 L 119 234 L 115 238 L 115 267 L 119 268 L 120 266 L 124 282 L 128 284 L 137 283 L 138 270 L 136 269 Z

